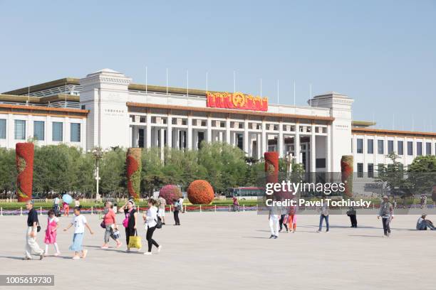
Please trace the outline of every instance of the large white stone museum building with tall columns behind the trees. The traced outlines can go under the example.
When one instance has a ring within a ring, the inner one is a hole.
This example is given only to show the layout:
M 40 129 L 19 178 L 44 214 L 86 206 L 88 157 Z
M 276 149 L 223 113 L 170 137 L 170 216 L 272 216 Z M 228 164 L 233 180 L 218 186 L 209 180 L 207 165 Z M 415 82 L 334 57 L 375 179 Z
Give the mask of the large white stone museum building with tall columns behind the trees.
M 242 93 L 135 84 L 104 69 L 82 79 L 64 78 L 0 95 L 0 146 L 29 137 L 38 144 L 199 148 L 202 141 L 239 146 L 247 156 L 293 154 L 310 172 L 341 171 L 353 154 L 358 173 L 373 174 L 395 151 L 408 166 L 435 154 L 436 133 L 373 129 L 353 122 L 353 99 L 328 92 L 308 106 L 268 104 Z

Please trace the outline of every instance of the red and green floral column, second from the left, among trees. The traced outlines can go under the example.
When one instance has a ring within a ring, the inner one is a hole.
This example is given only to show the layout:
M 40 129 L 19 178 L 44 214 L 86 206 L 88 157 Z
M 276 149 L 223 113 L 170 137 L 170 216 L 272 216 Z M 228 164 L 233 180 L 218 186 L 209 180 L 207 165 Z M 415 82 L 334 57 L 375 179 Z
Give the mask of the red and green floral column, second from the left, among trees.
M 127 165 L 127 179 L 129 195 L 133 198 L 140 198 L 141 184 L 141 149 L 129 148 L 125 163 Z

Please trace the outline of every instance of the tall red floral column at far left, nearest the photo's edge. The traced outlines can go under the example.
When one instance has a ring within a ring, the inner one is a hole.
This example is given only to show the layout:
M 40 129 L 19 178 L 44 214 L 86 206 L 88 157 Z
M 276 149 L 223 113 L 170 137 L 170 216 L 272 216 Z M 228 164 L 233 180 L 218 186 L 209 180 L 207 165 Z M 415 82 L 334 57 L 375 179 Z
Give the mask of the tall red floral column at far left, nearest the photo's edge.
M 17 143 L 15 146 L 16 195 L 19 202 L 32 199 L 33 186 L 33 156 L 35 147 L 33 143 Z

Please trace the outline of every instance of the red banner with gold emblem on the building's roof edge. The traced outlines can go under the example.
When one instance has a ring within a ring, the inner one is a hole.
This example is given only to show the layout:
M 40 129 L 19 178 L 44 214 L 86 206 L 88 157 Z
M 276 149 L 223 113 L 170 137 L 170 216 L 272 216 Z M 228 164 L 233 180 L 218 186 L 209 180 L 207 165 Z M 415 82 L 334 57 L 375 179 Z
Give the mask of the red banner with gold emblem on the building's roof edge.
M 224 109 L 248 109 L 251 111 L 268 111 L 267 97 L 244 95 L 242 92 L 208 92 L 207 107 Z

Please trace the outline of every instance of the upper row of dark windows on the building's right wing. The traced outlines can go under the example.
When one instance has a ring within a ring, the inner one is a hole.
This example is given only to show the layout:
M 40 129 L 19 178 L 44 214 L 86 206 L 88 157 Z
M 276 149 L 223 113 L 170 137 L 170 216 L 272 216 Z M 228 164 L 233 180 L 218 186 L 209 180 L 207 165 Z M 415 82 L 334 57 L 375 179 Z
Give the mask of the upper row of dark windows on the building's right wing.
M 367 153 L 368 154 L 374 154 L 374 140 L 368 139 L 367 140 Z M 398 155 L 404 155 L 404 141 L 397 141 L 397 152 Z M 413 141 L 407 142 L 407 153 L 408 155 L 413 155 Z M 436 144 L 435 144 L 436 146 Z M 353 151 L 353 139 L 351 139 L 351 151 Z M 358 138 L 357 139 L 357 153 L 363 153 L 363 139 Z M 388 140 L 388 154 L 393 153 L 394 151 L 394 141 Z M 377 153 L 378 154 L 385 154 L 385 140 L 377 140 Z M 432 154 L 432 144 L 430 142 L 425 143 L 425 155 L 431 155 Z M 416 155 L 421 156 L 422 155 L 422 142 L 416 142 Z

